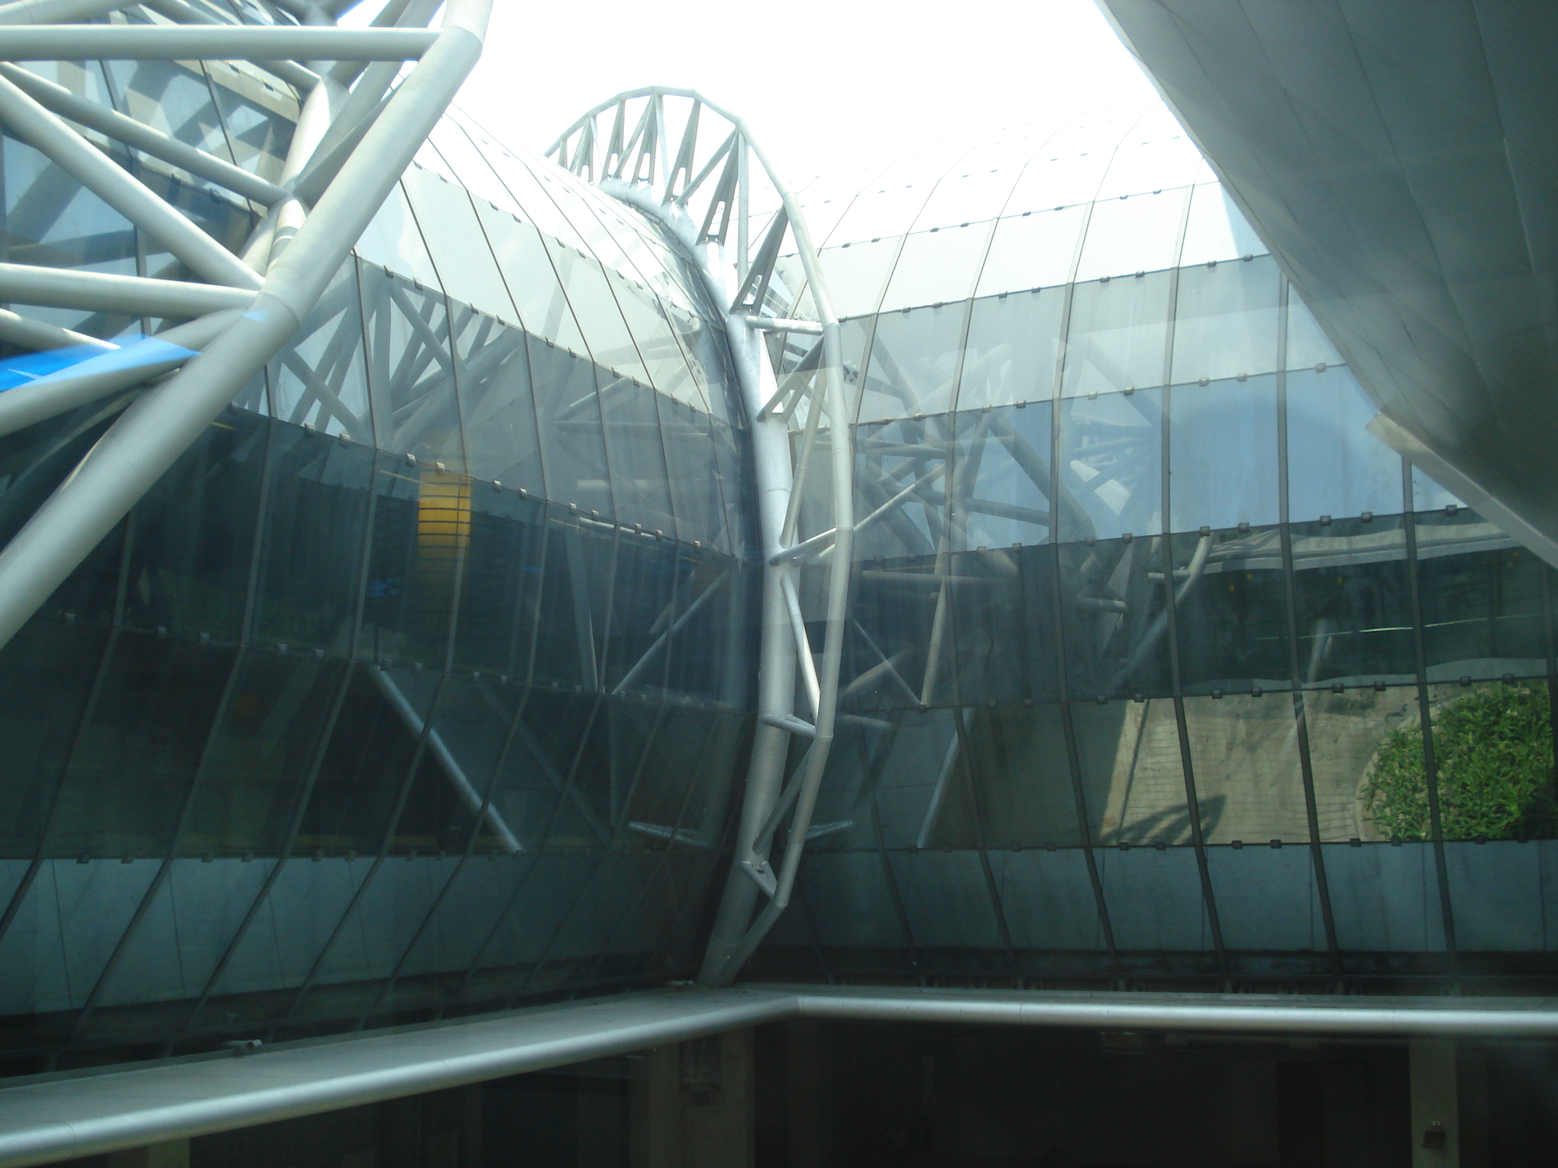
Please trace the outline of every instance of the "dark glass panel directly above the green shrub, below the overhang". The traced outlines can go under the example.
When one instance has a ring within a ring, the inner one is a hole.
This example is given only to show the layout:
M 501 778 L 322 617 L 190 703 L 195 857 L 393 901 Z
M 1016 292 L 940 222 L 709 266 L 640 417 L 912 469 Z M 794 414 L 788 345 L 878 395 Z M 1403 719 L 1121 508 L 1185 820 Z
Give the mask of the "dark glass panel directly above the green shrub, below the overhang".
M 1416 519 L 1429 681 L 1547 673 L 1542 562 L 1475 511 Z

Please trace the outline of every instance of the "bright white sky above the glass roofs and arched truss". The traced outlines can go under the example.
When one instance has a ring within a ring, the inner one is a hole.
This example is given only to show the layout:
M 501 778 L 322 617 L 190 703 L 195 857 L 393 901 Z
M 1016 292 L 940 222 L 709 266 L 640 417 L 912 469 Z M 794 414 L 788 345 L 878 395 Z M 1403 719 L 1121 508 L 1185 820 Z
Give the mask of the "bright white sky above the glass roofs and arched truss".
M 539 153 L 586 109 L 653 84 L 746 117 L 793 185 L 1151 95 L 1094 0 L 495 0 L 458 104 Z

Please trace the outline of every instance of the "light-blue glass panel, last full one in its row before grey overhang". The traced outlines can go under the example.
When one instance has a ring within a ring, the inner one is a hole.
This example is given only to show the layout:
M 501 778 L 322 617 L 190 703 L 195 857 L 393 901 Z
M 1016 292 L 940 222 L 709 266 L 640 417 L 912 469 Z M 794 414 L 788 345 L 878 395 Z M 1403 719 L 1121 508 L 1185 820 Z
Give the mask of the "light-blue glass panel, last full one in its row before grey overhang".
M 1170 529 L 1276 523 L 1276 470 L 1274 377 L 1170 391 Z

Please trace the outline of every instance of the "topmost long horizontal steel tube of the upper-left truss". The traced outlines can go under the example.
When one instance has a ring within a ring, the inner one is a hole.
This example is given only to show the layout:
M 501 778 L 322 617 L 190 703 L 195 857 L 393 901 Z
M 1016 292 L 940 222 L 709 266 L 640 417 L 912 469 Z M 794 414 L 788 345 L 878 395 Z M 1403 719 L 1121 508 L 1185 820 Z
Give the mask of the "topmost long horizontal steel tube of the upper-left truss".
M 436 39 L 424 28 L 16 25 L 0 28 L 0 61 L 414 61 Z

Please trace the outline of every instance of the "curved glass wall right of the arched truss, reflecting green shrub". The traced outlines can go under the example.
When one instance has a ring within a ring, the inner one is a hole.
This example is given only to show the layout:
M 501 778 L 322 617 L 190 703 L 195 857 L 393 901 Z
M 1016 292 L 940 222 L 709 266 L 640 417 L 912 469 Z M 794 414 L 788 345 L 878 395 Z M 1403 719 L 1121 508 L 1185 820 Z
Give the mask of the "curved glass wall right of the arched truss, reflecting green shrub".
M 1550 568 L 1365 431 L 1167 111 L 802 201 L 857 565 L 754 975 L 1550 976 Z

